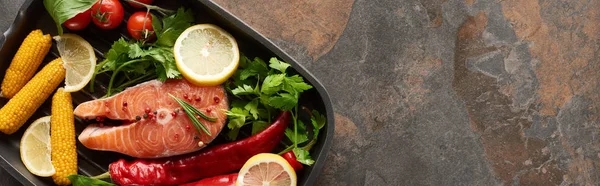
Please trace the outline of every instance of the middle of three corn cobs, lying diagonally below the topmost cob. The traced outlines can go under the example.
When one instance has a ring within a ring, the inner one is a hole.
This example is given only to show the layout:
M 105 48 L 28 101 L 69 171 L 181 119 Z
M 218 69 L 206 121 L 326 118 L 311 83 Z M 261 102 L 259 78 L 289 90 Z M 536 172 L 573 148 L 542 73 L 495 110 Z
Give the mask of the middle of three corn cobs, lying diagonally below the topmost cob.
M 12 134 L 33 115 L 65 79 L 62 59 L 48 63 L 4 107 L 0 108 L 0 132 Z

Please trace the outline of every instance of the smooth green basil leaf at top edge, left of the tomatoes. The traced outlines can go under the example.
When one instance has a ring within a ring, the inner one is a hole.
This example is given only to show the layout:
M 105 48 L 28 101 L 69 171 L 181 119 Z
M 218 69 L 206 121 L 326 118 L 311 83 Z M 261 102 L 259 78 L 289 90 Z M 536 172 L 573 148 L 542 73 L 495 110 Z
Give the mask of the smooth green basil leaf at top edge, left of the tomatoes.
M 44 0 L 44 7 L 54 19 L 58 34 L 63 33 L 62 24 L 75 17 L 81 12 L 85 12 L 92 7 L 98 0 Z

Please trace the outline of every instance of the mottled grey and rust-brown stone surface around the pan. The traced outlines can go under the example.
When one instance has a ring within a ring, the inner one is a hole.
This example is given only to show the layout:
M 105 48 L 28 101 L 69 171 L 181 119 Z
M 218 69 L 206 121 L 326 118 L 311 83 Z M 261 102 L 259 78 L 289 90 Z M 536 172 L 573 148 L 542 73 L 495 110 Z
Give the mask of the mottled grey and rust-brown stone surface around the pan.
M 329 90 L 317 185 L 600 184 L 600 1 L 216 2 Z

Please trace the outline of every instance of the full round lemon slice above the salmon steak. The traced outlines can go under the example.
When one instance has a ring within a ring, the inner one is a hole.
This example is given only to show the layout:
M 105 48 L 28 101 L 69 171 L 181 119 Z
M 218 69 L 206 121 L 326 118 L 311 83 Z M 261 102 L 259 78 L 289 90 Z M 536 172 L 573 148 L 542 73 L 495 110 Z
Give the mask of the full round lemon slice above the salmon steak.
M 233 36 L 212 24 L 187 28 L 177 38 L 173 50 L 183 77 L 201 86 L 225 82 L 233 75 L 240 60 Z

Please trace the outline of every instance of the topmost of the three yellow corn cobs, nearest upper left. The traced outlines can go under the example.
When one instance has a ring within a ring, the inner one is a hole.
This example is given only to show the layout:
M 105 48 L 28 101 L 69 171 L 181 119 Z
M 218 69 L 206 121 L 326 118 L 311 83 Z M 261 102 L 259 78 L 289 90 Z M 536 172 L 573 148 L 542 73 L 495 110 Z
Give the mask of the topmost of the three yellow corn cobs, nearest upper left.
M 50 47 L 52 47 L 52 38 L 49 34 L 43 35 L 38 29 L 27 35 L 2 80 L 3 97 L 12 98 L 27 84 L 48 54 Z

